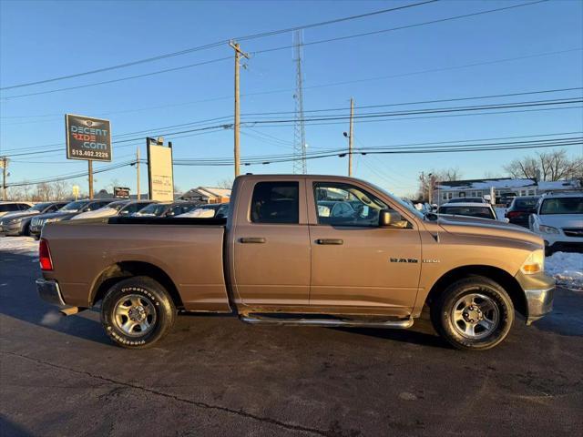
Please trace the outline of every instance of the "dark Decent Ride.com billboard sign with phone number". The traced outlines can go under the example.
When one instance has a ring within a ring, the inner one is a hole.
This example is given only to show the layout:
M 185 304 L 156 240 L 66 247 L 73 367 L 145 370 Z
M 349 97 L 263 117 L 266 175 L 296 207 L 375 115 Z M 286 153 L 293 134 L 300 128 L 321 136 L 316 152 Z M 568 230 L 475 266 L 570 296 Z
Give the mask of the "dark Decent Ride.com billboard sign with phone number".
M 65 115 L 66 158 L 111 161 L 109 120 Z

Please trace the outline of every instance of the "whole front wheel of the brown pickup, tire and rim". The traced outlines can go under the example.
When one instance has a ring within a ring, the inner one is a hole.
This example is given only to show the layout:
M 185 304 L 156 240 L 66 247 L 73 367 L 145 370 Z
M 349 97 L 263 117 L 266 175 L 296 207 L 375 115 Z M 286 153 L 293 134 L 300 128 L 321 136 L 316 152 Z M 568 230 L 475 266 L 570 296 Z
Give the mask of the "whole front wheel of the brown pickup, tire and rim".
M 456 349 L 485 351 L 506 339 L 514 322 L 512 300 L 481 276 L 459 279 L 431 306 L 435 330 Z

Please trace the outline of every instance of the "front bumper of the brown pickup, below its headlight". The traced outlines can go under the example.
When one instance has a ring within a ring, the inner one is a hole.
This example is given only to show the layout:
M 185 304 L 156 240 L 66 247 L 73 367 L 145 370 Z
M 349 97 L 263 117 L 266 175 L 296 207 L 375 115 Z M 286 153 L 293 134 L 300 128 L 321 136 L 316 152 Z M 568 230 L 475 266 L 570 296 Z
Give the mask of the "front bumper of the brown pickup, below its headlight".
M 555 279 L 545 273 L 525 275 L 522 272 L 518 272 L 516 279 L 527 300 L 527 325 L 553 310 Z

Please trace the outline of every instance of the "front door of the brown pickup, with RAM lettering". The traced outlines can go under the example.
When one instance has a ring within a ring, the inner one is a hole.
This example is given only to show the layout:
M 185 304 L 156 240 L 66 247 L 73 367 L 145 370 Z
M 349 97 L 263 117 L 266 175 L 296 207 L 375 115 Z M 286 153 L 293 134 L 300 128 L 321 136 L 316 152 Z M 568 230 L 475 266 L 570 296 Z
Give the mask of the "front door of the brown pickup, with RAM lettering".
M 395 206 L 373 195 L 370 188 L 318 179 L 308 179 L 306 184 L 311 307 L 408 315 L 422 262 L 414 220 L 402 216 L 391 228 L 381 228 L 379 211 Z

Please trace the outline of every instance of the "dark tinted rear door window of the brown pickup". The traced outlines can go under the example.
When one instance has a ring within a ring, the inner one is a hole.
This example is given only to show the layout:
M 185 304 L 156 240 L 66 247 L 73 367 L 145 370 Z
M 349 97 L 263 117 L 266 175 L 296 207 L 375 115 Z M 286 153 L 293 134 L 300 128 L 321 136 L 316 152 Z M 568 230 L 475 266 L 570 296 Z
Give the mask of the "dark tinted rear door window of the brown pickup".
M 299 223 L 298 182 L 259 182 L 251 198 L 253 223 Z

